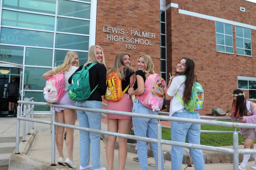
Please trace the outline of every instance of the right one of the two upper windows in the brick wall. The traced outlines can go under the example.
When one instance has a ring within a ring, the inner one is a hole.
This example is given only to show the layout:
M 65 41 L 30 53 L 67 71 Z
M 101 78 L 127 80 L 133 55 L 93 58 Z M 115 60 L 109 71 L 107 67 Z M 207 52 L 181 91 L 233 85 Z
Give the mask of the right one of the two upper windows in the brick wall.
M 236 26 L 236 53 L 252 56 L 251 29 Z

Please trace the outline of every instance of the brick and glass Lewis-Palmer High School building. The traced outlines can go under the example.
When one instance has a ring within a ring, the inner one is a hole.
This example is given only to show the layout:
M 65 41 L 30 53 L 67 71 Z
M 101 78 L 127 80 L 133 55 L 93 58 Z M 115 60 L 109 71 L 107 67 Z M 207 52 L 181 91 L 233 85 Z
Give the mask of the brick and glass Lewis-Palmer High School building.
M 234 89 L 256 100 L 255 8 L 246 0 L 0 0 L 1 101 L 14 76 L 20 100 L 45 102 L 43 73 L 69 50 L 84 64 L 96 44 L 107 69 L 118 52 L 127 51 L 134 68 L 148 54 L 167 83 L 180 58 L 190 57 L 205 93 L 200 113 L 231 110 Z

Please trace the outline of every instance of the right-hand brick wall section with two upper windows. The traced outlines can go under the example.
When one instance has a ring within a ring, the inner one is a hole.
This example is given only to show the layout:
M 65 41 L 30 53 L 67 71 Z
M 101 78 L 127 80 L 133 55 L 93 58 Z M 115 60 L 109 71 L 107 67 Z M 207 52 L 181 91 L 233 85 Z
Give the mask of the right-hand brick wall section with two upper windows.
M 209 16 L 255 25 L 256 4 L 243 0 L 169 0 L 178 3 L 179 9 Z M 245 8 L 245 12 L 240 11 Z M 180 58 L 187 56 L 196 64 L 197 79 L 205 90 L 201 113 L 209 114 L 213 107 L 231 109 L 231 93 L 237 89 L 237 76 L 255 77 L 256 31 L 251 29 L 252 57 L 236 54 L 236 34 L 233 25 L 234 54 L 216 51 L 215 21 L 179 14 L 177 8 L 166 11 L 167 18 L 167 72 L 174 75 Z M 248 97 L 248 91 L 244 91 Z

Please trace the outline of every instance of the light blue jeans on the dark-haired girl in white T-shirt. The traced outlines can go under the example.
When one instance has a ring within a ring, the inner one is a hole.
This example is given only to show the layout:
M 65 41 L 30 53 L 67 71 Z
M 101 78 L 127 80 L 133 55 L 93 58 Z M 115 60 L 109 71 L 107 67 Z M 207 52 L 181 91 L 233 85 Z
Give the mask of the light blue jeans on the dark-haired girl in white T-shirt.
M 190 119 L 200 119 L 199 113 L 191 114 L 186 109 L 183 109 L 182 111 L 183 112 L 176 112 L 172 116 Z M 200 129 L 200 124 L 172 121 L 172 141 L 185 142 L 187 138 L 188 143 L 200 144 Z M 172 146 L 172 170 L 181 170 L 183 152 L 184 147 Z M 204 170 L 204 158 L 202 150 L 189 148 L 189 154 L 192 156 L 195 170 Z

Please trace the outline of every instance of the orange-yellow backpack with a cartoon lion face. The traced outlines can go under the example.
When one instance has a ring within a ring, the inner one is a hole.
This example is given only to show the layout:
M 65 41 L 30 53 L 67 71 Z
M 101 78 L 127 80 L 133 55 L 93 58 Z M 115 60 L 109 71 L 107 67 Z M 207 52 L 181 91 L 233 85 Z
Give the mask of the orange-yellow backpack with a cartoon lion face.
M 106 81 L 107 90 L 104 99 L 107 101 L 118 101 L 123 97 L 123 94 L 128 90 L 129 85 L 122 91 L 122 79 L 117 76 L 115 70 L 110 73 Z

